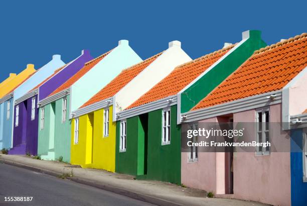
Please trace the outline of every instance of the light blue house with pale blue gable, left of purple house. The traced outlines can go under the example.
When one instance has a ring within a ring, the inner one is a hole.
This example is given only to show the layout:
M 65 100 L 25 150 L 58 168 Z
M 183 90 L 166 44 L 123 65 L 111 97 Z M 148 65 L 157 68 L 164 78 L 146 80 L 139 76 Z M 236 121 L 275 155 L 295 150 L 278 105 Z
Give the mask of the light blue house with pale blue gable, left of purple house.
M 23 83 L 0 99 L 0 149 L 9 149 L 12 148 L 13 145 L 15 100 L 22 97 L 63 65 L 65 65 L 65 63 L 61 60 L 61 56 L 53 55 L 50 62 L 38 69 Z

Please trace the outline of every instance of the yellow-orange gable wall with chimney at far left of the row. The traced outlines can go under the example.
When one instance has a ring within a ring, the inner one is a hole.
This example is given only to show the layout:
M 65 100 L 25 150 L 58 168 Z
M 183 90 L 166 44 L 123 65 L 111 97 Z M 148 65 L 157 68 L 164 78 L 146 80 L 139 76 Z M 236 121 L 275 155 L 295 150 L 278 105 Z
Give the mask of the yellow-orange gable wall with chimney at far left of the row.
M 23 70 L 17 76 L 13 77 L 11 80 L 7 81 L 7 83 L 2 85 L 0 89 L 0 98 L 7 95 L 13 88 L 23 82 L 33 72 L 35 72 L 34 65 L 28 64 L 25 70 Z

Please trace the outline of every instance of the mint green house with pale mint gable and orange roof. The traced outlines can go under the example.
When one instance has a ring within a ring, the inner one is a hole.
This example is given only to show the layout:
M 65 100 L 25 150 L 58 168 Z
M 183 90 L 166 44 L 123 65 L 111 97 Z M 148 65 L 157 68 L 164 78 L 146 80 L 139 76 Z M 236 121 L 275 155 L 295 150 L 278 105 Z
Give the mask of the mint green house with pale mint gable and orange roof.
M 46 98 L 39 100 L 38 155 L 44 160 L 70 162 L 71 111 L 117 76 L 122 69 L 142 59 L 120 40 L 118 46 L 90 60 Z M 76 143 L 77 144 L 77 143 Z

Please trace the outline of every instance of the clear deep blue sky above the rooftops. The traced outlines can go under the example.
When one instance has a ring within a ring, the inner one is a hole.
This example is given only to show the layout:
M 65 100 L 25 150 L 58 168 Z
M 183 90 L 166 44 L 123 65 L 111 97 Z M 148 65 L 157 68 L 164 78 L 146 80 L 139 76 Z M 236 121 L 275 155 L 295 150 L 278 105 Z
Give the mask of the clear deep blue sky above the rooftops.
M 129 40 L 142 59 L 179 40 L 197 58 L 238 42 L 245 30 L 262 31 L 272 44 L 306 31 L 307 1 L 1 1 L 0 81 L 26 64 L 39 68 L 83 48 L 96 57 Z

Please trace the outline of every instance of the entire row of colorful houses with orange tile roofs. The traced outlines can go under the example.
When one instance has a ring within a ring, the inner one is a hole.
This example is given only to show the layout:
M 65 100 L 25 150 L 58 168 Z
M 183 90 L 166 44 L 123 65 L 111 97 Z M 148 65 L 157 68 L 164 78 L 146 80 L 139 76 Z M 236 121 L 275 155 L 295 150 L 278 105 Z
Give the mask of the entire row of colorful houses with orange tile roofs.
M 0 83 L 0 149 L 221 197 L 304 205 L 306 39 L 267 46 L 260 31 L 246 31 L 194 60 L 179 41 L 145 60 L 127 40 L 96 58 L 83 50 L 67 64 L 54 55 Z M 257 128 L 257 142 L 288 151 L 182 151 L 183 124 L 202 122 L 283 123 Z

